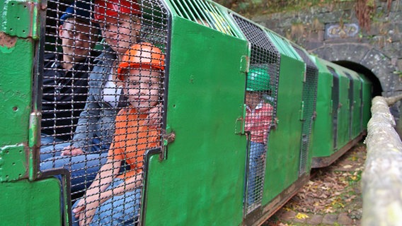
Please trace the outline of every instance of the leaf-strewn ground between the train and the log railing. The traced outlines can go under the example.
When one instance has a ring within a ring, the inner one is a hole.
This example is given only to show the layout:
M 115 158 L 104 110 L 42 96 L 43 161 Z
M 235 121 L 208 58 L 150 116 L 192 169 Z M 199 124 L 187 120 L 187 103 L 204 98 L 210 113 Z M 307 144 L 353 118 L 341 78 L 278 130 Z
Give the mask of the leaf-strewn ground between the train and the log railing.
M 360 179 L 366 148 L 359 143 L 310 182 L 263 225 L 360 225 Z

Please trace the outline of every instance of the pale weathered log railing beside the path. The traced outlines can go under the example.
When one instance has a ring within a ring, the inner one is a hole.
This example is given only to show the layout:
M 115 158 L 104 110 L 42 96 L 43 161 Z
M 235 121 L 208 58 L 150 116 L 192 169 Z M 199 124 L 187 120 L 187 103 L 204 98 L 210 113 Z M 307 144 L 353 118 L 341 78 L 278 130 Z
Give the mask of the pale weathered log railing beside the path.
M 362 175 L 362 225 L 402 222 L 402 142 L 389 111 L 399 97 L 374 97 L 367 124 L 367 160 Z

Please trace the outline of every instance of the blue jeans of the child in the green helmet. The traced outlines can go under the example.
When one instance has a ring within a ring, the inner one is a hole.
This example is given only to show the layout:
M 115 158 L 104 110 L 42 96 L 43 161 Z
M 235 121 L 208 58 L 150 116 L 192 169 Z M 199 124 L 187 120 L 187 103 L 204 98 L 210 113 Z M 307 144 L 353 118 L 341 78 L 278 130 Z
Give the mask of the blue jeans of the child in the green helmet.
M 260 194 L 260 187 L 263 186 L 263 170 L 265 164 L 265 145 L 263 143 L 250 143 L 250 160 L 248 162 L 247 177 L 247 203 L 248 206 L 257 201 Z M 257 187 L 258 186 L 258 187 Z M 258 189 L 257 189 L 258 188 Z

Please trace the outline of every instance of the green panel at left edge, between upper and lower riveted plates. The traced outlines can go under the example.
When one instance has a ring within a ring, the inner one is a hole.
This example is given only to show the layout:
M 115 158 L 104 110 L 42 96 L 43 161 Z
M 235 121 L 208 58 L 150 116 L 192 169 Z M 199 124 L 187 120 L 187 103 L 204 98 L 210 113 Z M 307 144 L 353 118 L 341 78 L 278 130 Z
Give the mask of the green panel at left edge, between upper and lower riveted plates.
M 0 145 L 28 140 L 33 43 L 16 40 L 12 47 L 0 46 Z

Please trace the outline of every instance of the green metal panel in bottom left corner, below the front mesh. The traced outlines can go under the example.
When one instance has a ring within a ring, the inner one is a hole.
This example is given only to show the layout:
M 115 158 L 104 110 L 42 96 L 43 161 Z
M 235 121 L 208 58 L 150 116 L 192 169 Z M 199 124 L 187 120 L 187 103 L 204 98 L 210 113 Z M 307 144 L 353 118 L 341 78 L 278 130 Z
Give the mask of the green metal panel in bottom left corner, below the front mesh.
M 0 183 L 0 225 L 62 225 L 56 178 Z

